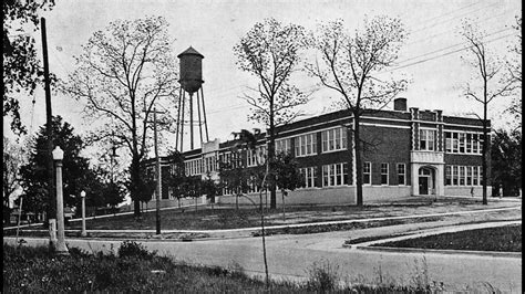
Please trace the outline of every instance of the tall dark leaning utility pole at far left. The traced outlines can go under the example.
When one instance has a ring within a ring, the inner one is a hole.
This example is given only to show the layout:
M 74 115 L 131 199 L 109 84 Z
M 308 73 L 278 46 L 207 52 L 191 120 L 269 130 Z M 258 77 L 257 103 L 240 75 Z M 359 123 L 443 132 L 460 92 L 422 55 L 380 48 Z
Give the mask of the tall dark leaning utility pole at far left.
M 48 208 L 48 223 L 50 233 L 50 246 L 51 250 L 56 248 L 56 198 L 54 187 L 54 164 L 53 164 L 53 122 L 51 113 L 51 86 L 49 80 L 49 62 L 48 62 L 48 36 L 45 34 L 45 19 L 41 18 L 40 23 L 42 27 L 42 54 L 44 64 L 44 90 L 45 90 L 45 126 L 48 135 L 48 195 L 49 195 L 49 208 Z

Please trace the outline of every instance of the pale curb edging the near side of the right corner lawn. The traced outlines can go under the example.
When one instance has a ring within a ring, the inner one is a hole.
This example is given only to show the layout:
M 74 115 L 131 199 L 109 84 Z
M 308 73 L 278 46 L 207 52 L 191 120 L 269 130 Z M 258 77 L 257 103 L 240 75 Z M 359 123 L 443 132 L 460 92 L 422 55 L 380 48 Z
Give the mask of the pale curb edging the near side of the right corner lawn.
M 343 244 L 343 248 L 352 248 L 350 244 Z M 498 252 L 498 251 L 471 251 L 471 250 L 440 250 L 440 249 L 418 249 L 418 248 L 387 248 L 387 246 L 363 246 L 354 245 L 358 250 L 369 251 L 389 251 L 399 253 L 436 253 L 436 254 L 466 254 L 493 258 L 513 258 L 521 259 L 522 252 Z

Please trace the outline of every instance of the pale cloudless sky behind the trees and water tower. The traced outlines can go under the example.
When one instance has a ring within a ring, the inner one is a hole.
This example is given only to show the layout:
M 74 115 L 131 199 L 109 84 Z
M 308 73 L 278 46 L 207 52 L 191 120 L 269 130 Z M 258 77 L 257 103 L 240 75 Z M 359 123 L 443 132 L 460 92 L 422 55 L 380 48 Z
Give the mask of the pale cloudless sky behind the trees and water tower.
M 506 52 L 507 45 L 515 41 L 511 25 L 515 23 L 514 17 L 521 14 L 521 9 L 519 0 L 61 0 L 43 15 L 48 27 L 50 70 L 59 77 L 65 77 L 74 70 L 73 56 L 81 53 L 81 45 L 109 22 L 146 15 L 166 18 L 169 33 L 176 39 L 175 53 L 192 45 L 205 56 L 203 78 L 209 136 L 210 139 L 220 138 L 224 141 L 231 138 L 234 130 L 260 127 L 247 122 L 249 107 L 239 98 L 247 85 L 256 83 L 255 77 L 236 67 L 233 46 L 255 22 L 267 17 L 307 29 L 315 29 L 319 21 L 341 18 L 352 32 L 356 25 L 363 22 L 366 14 L 400 17 L 410 36 L 399 59 L 400 65 L 406 66 L 394 73 L 408 74 L 413 80 L 403 94 L 409 107 L 443 109 L 445 114 L 453 115 L 472 111 L 482 114 L 481 104 L 461 96 L 460 86 L 469 78 L 469 69 L 460 60 L 464 51 L 446 54 L 463 46 L 457 34 L 461 20 L 473 18 L 488 33 L 495 32 L 491 38 L 496 40 L 490 46 Z M 40 31 L 35 35 L 37 46 L 41 48 Z M 296 81 L 303 90 L 312 88 L 317 83 L 306 75 L 296 76 Z M 327 112 L 327 107 L 338 98 L 336 93 L 326 91 L 312 97 L 302 107 L 310 116 Z M 58 93 L 53 94 L 52 99 L 53 115 L 62 115 L 81 134 L 89 128 L 83 124 L 82 105 Z M 21 101 L 21 114 L 22 122 L 28 128 L 32 125 L 34 133 L 45 123 L 43 90 L 35 93 L 34 112 L 30 101 Z M 490 117 L 496 127 L 505 124 L 501 113 L 508 103 L 509 98 L 493 102 Z M 6 122 L 3 129 L 10 133 Z

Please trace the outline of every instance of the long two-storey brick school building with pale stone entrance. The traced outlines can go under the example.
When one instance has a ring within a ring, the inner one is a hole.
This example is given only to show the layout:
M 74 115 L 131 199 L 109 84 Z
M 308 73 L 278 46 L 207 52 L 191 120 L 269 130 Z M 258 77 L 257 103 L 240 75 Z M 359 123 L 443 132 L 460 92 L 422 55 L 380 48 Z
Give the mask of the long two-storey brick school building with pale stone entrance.
M 338 111 L 277 127 L 276 153 L 292 154 L 305 181 L 303 188 L 288 193 L 287 204 L 356 203 L 352 124 L 350 112 Z M 367 111 L 360 126 L 364 141 L 364 203 L 411 196 L 471 196 L 473 192 L 481 197 L 484 139 L 481 120 L 445 116 L 439 109 L 408 108 L 406 99 L 398 98 L 393 109 Z M 265 135 L 258 135 L 254 151 L 245 150 L 241 155 L 244 167 L 254 168 L 264 160 Z M 186 175 L 218 180 L 219 162 L 231 160 L 231 147 L 237 143 L 215 139 L 203 143 L 202 148 L 185 151 Z M 154 171 L 153 161 L 150 162 L 148 168 Z M 162 158 L 161 162 L 164 177 L 173 172 L 174 165 L 168 158 Z M 487 171 L 490 176 L 490 165 Z M 169 187 L 162 190 L 162 206 L 174 206 L 173 190 Z M 491 191 L 487 187 L 488 196 Z M 256 185 L 251 185 L 246 195 L 259 201 Z M 215 200 L 234 203 L 235 197 L 223 189 Z M 280 201 L 278 196 L 277 203 Z M 239 202 L 249 201 L 240 198 Z

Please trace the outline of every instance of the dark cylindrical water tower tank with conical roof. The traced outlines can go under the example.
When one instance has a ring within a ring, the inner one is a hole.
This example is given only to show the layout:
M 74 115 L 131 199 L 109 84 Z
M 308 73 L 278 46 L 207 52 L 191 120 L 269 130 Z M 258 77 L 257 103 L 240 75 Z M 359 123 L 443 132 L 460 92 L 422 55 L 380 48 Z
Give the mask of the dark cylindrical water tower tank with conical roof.
M 181 86 L 193 94 L 200 88 L 203 81 L 203 54 L 189 46 L 186 51 L 178 54 L 181 64 Z

